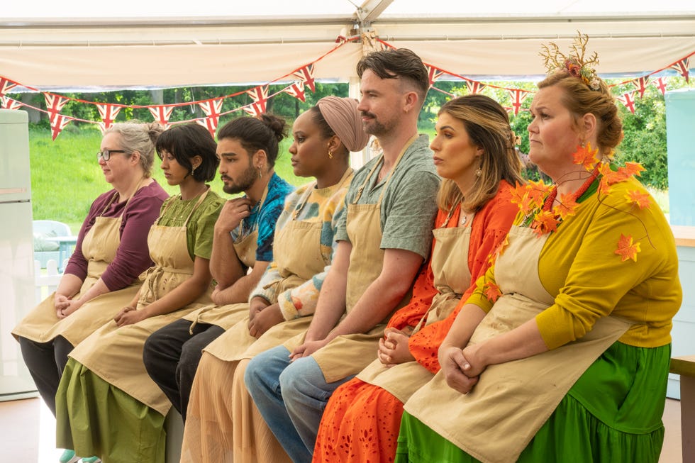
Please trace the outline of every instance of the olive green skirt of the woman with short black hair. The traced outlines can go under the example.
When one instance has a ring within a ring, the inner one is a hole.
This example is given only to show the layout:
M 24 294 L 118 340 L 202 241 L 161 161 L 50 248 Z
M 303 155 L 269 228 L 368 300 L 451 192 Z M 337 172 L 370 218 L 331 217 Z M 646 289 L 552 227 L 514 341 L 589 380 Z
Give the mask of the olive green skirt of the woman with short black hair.
M 56 444 L 104 463 L 164 463 L 161 413 L 69 359 L 55 395 Z

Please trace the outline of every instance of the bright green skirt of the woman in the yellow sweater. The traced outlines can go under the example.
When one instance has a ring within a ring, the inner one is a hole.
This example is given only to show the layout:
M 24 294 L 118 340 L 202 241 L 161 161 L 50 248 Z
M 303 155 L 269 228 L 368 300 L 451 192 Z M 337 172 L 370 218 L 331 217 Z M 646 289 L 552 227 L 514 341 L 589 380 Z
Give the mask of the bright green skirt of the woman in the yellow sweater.
M 615 342 L 569 389 L 518 462 L 657 463 L 671 346 Z M 407 412 L 396 463 L 479 462 Z

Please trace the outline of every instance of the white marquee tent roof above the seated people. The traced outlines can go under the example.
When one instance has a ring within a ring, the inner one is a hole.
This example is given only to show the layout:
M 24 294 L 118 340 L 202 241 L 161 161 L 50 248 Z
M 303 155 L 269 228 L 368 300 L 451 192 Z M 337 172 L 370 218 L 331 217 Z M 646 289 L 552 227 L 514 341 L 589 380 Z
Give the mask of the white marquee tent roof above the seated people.
M 340 36 L 365 40 L 316 62 L 316 79 L 355 82 L 373 38 L 477 79 L 543 74 L 540 44 L 566 46 L 577 30 L 599 52 L 601 74 L 652 72 L 695 51 L 691 0 L 4 3 L 0 76 L 42 90 L 270 82 Z

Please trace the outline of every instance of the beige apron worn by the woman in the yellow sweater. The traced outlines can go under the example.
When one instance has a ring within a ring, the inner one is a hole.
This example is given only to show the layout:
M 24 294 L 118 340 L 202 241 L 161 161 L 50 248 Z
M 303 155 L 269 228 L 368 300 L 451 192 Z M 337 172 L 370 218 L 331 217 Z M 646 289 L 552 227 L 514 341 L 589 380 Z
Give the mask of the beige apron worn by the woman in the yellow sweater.
M 552 305 L 554 298 L 538 277 L 545 240 L 547 235 L 537 238 L 531 228 L 511 228 L 509 245 L 495 266 L 503 295 L 471 344 L 513 330 Z M 405 410 L 482 462 L 515 462 L 579 376 L 629 327 L 620 318 L 601 318 L 577 341 L 487 367 L 465 395 L 451 389 L 439 372 L 413 394 Z

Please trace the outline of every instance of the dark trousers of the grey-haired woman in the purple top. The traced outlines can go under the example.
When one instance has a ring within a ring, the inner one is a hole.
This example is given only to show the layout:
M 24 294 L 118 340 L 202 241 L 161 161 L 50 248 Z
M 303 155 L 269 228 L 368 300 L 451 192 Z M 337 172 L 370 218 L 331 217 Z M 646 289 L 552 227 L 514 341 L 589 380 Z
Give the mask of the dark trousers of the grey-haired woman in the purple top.
M 49 342 L 36 342 L 20 336 L 19 347 L 38 393 L 55 416 L 55 393 L 67 364 L 67 355 L 74 346 L 62 336 Z

